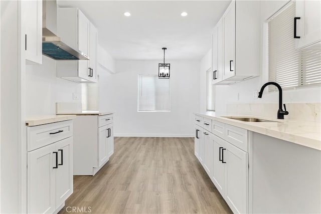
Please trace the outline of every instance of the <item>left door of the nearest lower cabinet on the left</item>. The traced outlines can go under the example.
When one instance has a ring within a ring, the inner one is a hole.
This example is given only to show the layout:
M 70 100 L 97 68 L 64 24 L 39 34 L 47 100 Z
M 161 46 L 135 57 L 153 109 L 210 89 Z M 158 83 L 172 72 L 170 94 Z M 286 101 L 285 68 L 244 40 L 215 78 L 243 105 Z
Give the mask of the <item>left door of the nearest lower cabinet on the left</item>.
M 28 213 L 56 210 L 56 145 L 28 152 Z

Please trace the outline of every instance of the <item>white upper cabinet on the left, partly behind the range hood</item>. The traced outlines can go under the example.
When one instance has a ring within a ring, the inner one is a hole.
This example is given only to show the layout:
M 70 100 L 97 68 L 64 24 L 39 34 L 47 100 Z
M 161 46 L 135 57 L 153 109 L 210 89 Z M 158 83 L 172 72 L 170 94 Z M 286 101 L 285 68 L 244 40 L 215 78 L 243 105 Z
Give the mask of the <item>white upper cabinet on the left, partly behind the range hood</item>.
M 77 8 L 58 8 L 58 35 L 90 60 L 57 61 L 57 77 L 78 83 L 95 83 L 97 30 Z

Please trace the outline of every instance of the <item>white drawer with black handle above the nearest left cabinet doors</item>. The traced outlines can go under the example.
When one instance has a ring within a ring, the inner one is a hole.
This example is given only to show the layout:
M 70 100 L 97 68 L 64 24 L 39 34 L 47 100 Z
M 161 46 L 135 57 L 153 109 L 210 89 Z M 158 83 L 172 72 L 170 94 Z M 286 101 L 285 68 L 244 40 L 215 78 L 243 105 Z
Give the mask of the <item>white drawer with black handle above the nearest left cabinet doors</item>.
M 71 137 L 72 135 L 72 120 L 27 127 L 28 151 Z

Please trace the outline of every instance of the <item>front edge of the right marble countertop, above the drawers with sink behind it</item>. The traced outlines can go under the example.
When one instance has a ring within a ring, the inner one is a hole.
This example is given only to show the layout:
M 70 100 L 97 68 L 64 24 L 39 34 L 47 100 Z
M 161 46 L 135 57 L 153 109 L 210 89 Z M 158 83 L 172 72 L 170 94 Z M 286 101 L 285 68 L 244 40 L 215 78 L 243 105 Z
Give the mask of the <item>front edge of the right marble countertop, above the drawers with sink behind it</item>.
M 239 128 L 243 128 L 249 131 L 253 131 L 259 134 L 264 134 L 270 137 L 274 137 L 277 139 L 281 139 L 287 142 L 295 143 L 298 145 L 306 146 L 309 148 L 313 148 L 316 150 L 321 150 L 321 141 L 313 139 L 313 138 L 308 138 L 296 134 L 291 134 L 291 133 L 286 133 L 286 132 L 281 132 L 273 129 L 268 129 L 268 128 L 263 128 L 259 126 L 254 126 L 253 124 L 246 124 L 241 121 L 233 121 L 232 119 L 220 117 L 220 116 L 212 116 L 212 115 L 207 115 L 204 113 L 193 113 L 198 116 L 206 117 L 212 120 L 216 120 L 218 122 L 222 122 L 228 125 L 236 126 Z M 249 116 L 249 115 L 248 115 Z M 253 128 L 255 127 L 255 128 Z M 281 136 L 280 136 L 281 133 Z M 306 142 L 308 141 L 308 142 Z

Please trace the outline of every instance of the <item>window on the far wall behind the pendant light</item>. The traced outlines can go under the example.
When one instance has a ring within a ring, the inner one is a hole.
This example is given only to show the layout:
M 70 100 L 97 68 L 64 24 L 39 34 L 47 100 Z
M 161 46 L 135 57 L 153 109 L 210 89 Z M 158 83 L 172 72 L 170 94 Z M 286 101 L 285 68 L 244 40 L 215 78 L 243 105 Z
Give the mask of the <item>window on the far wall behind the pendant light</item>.
M 170 79 L 138 75 L 138 111 L 171 111 Z

